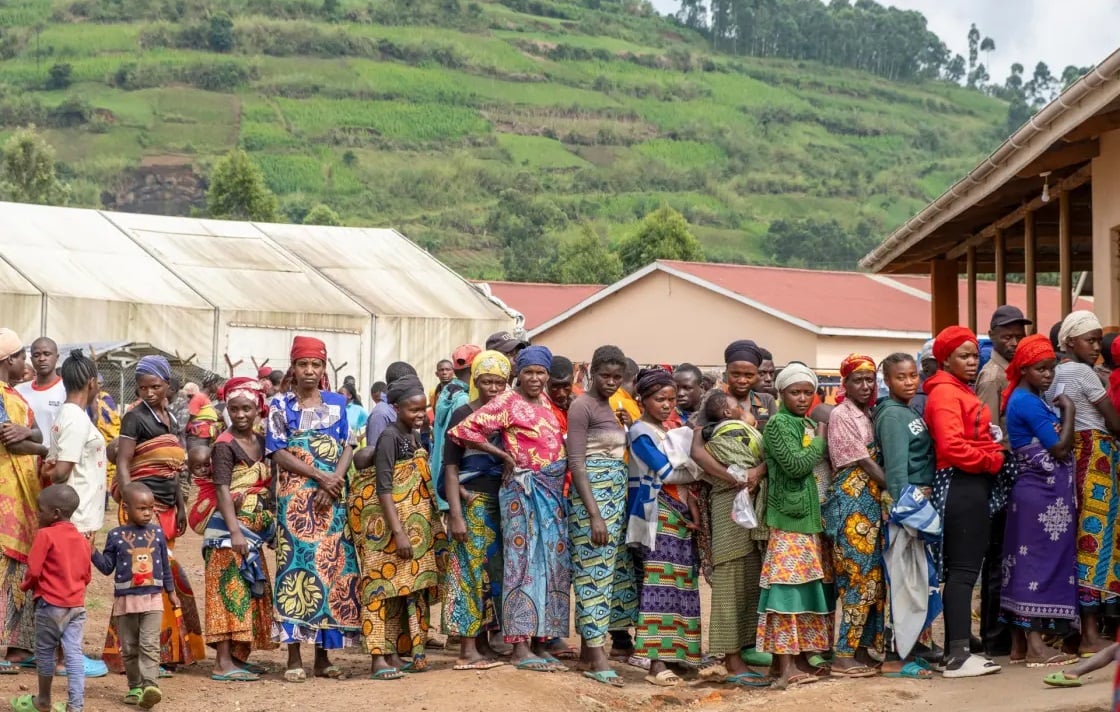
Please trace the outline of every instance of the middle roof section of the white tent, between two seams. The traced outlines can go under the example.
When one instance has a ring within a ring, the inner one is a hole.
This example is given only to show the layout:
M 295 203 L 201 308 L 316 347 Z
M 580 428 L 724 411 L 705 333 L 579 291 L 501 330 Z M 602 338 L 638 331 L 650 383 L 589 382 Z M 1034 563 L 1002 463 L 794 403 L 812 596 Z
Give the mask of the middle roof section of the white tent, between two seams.
M 220 309 L 368 316 L 252 223 L 131 213 L 105 216 Z

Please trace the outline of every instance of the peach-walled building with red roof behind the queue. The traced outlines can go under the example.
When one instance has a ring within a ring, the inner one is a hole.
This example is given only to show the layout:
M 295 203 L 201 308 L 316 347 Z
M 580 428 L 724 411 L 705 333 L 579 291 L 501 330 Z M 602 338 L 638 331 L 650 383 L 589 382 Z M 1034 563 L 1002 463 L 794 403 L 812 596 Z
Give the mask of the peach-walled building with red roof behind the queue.
M 1008 285 L 1008 299 L 1021 307 L 1016 287 Z M 978 284 L 981 331 L 998 306 L 995 293 L 995 284 Z M 528 331 L 534 344 L 577 362 L 614 344 L 638 363 L 713 366 L 727 344 L 750 338 L 778 365 L 801 360 L 831 371 L 853 352 L 876 360 L 917 353 L 931 337 L 931 299 L 926 277 L 661 260 Z M 1077 308 L 1092 303 L 1080 300 Z M 1057 288 L 1038 288 L 1043 332 L 1060 311 Z

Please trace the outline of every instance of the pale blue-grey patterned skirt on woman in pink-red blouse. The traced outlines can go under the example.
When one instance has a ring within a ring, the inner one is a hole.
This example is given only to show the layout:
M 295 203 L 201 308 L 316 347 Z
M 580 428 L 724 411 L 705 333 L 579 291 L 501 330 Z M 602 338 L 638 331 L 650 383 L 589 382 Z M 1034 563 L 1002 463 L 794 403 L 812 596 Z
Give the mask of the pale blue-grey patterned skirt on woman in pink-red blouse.
M 506 643 L 564 638 L 570 625 L 571 556 L 567 460 L 540 471 L 517 469 L 502 485 L 502 630 Z

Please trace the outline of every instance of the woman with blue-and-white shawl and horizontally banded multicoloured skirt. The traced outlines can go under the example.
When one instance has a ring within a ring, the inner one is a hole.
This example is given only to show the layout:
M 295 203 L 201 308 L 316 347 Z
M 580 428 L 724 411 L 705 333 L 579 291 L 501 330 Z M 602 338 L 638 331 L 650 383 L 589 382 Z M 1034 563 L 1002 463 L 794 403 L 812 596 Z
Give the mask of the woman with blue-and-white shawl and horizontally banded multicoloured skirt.
M 626 543 L 635 546 L 642 582 L 635 655 L 650 661 L 646 682 L 681 683 L 669 663 L 697 667 L 700 655 L 700 590 L 692 532 L 699 514 L 687 487 L 663 484 L 672 470 L 663 423 L 676 406 L 673 376 L 662 368 L 638 374 L 642 419 L 629 431 L 631 494 Z

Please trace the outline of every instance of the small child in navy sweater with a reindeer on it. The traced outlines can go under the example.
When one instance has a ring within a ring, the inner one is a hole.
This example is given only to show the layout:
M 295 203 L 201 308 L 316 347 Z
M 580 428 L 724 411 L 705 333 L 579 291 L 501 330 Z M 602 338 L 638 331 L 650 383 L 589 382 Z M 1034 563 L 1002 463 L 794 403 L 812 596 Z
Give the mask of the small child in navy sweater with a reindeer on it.
M 156 498 L 142 483 L 131 483 L 121 493 L 127 524 L 109 533 L 105 551 L 93 552 L 93 564 L 113 578 L 113 611 L 121 638 L 121 657 L 128 675 L 124 704 L 150 710 L 164 699 L 159 678 L 159 628 L 164 616 L 162 592 L 179 607 L 175 592 L 167 538 L 153 523 Z

